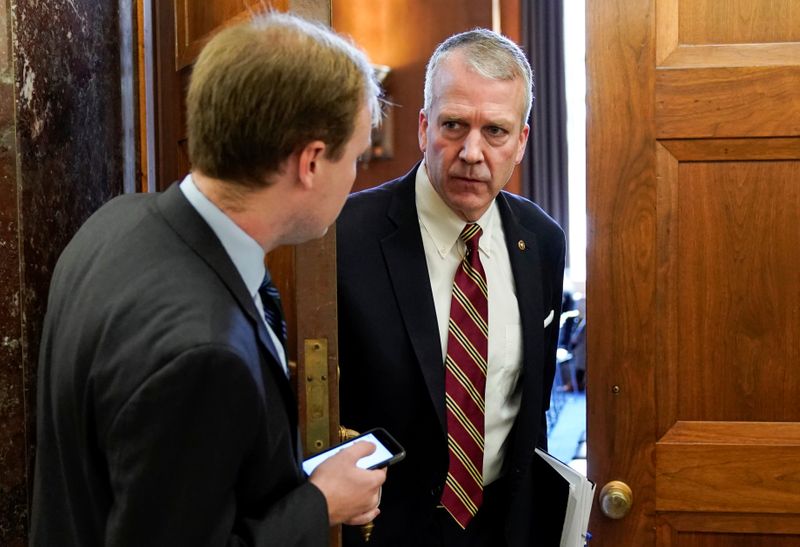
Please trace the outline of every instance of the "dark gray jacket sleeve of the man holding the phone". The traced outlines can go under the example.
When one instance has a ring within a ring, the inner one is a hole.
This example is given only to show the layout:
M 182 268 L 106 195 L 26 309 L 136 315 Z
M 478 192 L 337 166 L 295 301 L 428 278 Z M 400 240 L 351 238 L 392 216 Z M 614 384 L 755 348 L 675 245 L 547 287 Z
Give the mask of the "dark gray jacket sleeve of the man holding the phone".
M 226 347 L 186 351 L 150 376 L 104 436 L 113 499 L 105 543 L 327 545 L 325 499 L 271 442 L 294 432 L 265 433 L 268 408 Z M 240 470 L 265 453 L 255 450 L 265 439 L 267 461 L 256 465 L 269 488 L 245 501 Z

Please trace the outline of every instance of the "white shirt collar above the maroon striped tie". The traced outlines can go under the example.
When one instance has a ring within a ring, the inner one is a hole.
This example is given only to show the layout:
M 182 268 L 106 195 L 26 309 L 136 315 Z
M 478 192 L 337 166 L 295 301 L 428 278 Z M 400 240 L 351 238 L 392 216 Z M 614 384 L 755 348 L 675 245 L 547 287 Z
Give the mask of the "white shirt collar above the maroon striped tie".
M 436 245 L 439 255 L 444 257 L 458 242 L 458 236 L 467 224 L 444 202 L 439 193 L 433 188 L 428 178 L 428 171 L 423 161 L 414 181 L 417 203 L 417 214 L 422 227 L 428 232 Z M 486 256 L 491 256 L 492 229 L 495 224 L 495 206 L 492 201 L 489 208 L 476 222 L 483 230 L 478 248 Z

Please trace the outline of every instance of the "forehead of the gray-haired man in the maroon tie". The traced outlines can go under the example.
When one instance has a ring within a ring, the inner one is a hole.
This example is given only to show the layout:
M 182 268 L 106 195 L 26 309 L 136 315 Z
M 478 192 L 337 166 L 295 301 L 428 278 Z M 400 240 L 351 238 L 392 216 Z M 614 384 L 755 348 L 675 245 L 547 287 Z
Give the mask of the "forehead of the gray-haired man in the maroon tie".
M 523 86 L 522 78 L 495 80 L 482 76 L 460 53 L 454 53 L 442 60 L 433 75 L 431 116 L 480 112 L 520 123 L 525 103 Z

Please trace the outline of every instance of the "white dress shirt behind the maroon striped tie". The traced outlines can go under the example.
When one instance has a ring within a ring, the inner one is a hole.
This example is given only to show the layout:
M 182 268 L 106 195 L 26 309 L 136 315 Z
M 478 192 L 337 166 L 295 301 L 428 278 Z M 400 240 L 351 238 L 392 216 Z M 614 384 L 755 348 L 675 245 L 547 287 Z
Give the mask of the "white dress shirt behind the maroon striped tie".
M 417 214 L 444 366 L 453 279 L 466 252 L 459 235 L 466 222 L 433 188 L 424 163 L 417 170 L 415 184 Z M 522 389 L 517 380 L 522 366 L 522 327 L 503 223 L 494 202 L 477 224 L 483 230 L 478 247 L 489 287 L 489 360 L 483 453 L 483 483 L 486 485 L 500 477 L 508 433 L 519 412 Z

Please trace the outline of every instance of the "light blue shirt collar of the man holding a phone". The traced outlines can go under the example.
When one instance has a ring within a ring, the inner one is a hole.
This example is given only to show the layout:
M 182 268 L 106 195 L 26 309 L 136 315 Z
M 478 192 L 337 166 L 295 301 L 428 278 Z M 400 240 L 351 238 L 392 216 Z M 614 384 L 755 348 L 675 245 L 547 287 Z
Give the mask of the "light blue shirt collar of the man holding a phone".
M 219 238 L 225 252 L 242 276 L 247 291 L 255 298 L 258 288 L 264 280 L 264 249 L 231 218 L 214 205 L 194 183 L 192 175 L 186 175 L 180 186 L 181 192 L 189 200 L 192 207 L 203 217 Z

